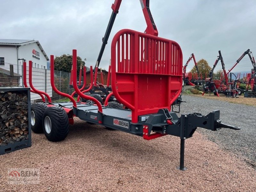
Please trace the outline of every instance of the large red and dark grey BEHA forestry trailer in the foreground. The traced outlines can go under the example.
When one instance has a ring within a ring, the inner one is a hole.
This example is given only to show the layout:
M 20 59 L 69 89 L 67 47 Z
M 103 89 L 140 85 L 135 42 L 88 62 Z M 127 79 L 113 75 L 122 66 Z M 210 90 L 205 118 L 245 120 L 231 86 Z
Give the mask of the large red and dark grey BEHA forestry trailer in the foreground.
M 112 5 L 113 17 L 121 0 Z M 171 111 L 171 105 L 182 90 L 182 52 L 175 41 L 157 36 L 156 26 L 149 11 L 149 1 L 141 0 L 147 29 L 144 33 L 123 29 L 116 33 L 111 43 L 111 84 L 114 97 L 128 109 L 110 108 L 97 99 L 84 94 L 77 86 L 76 50 L 73 50 L 73 86 L 76 93 L 95 104 L 75 101 L 68 94 L 58 91 L 54 85 L 54 57 L 51 56 L 51 84 L 55 92 L 66 96 L 71 102 L 35 103 L 31 109 L 32 129 L 44 132 L 50 141 L 64 140 L 69 124 L 76 116 L 86 122 L 103 125 L 151 140 L 166 135 L 180 137 L 180 170 L 184 167 L 185 139 L 192 137 L 197 127 L 216 131 L 221 127 L 240 129 L 221 123 L 220 111 L 203 116 L 199 113 L 178 117 Z M 110 33 L 108 26 L 106 34 Z M 103 40 L 103 46 L 106 44 Z M 103 48 L 104 49 L 104 48 Z M 100 55 L 102 56 L 102 49 Z M 97 62 L 100 63 L 100 58 Z M 31 66 L 29 66 L 31 67 Z M 92 67 L 91 67 L 92 74 Z M 32 85 L 29 70 L 30 86 Z M 24 78 L 26 79 L 26 78 Z M 33 89 L 34 92 L 45 94 Z

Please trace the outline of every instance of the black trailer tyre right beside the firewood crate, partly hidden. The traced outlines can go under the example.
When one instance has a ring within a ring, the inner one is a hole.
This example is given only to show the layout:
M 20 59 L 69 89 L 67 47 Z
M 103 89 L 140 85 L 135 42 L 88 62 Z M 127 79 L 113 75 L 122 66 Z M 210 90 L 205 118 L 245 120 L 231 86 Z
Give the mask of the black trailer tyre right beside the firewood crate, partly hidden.
M 43 133 L 43 115 L 47 105 L 45 103 L 35 103 L 31 106 L 30 122 L 31 130 L 35 133 Z

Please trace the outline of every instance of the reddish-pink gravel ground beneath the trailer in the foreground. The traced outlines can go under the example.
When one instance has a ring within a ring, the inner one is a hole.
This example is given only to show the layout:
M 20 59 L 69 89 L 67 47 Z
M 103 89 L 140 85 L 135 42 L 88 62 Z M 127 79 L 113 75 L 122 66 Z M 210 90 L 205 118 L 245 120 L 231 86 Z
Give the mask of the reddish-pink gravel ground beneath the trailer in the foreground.
M 256 191 L 254 169 L 198 132 L 186 140 L 184 172 L 180 139 L 170 135 L 147 141 L 76 118 L 64 141 L 32 139 L 0 156 L 0 191 Z M 9 185 L 8 168 L 38 168 L 40 184 Z

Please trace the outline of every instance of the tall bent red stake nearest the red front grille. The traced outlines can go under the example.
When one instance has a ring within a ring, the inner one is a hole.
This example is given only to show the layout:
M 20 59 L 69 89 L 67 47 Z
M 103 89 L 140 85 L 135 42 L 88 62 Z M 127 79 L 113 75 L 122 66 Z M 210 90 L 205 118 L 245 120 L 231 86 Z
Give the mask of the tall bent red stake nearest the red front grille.
M 76 69 L 76 50 L 73 49 L 73 69 Z M 92 68 L 92 67 L 91 67 Z M 91 97 L 91 96 L 88 96 L 88 95 L 85 95 L 83 94 L 77 87 L 77 84 L 74 83 L 76 82 L 76 70 L 73 70 L 73 87 L 75 89 L 75 91 L 77 92 L 77 94 L 84 98 L 84 99 L 87 99 L 87 100 L 92 100 L 99 108 L 99 112 L 102 113 L 102 106 L 100 104 L 100 101 L 98 101 L 97 99 L 95 99 L 94 97 Z M 100 121 L 99 121 L 100 123 Z

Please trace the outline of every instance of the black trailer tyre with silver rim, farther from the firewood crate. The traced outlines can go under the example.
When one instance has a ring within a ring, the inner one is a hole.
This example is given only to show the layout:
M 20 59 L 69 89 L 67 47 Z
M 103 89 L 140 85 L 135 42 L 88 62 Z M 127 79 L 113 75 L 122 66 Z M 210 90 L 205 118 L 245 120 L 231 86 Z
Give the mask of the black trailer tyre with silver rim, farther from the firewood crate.
M 68 135 L 69 123 L 66 111 L 61 107 L 49 107 L 43 116 L 44 135 L 49 141 L 61 141 Z

